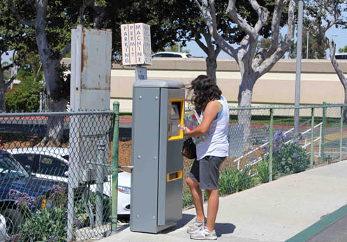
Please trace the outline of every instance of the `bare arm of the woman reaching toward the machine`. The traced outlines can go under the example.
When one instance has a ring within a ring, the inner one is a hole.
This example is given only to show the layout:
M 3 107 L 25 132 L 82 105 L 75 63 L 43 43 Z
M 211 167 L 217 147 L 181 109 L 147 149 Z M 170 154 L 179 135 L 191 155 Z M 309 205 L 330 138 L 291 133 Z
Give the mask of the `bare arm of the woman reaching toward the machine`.
M 213 120 L 216 118 L 217 114 L 221 111 L 221 103 L 219 101 L 209 101 L 205 108 L 205 113 L 202 118 L 201 124 L 196 127 L 196 129 L 189 130 L 184 126 L 184 135 L 191 136 L 200 136 L 202 134 L 206 134 L 211 126 Z

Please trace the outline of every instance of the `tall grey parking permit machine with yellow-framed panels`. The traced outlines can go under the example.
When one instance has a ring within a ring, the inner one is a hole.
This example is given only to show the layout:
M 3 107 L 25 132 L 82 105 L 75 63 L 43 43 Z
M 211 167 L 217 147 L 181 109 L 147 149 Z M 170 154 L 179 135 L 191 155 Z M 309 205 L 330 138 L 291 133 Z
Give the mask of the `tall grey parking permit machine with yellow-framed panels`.
M 133 232 L 158 233 L 182 218 L 184 94 L 184 84 L 175 81 L 133 85 Z

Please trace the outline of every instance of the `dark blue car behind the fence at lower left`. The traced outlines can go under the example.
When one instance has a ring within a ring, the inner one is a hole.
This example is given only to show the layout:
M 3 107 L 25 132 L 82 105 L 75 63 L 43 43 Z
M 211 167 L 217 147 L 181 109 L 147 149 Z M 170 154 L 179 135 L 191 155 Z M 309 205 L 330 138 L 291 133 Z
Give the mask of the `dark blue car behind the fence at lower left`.
M 6 220 L 7 234 L 15 234 L 25 219 L 21 209 L 17 207 L 17 199 L 10 195 L 11 192 L 24 194 L 29 199 L 41 195 L 47 197 L 54 185 L 62 185 L 62 183 L 57 180 L 38 178 L 28 173 L 9 152 L 0 150 L 0 213 Z M 67 184 L 64 185 L 67 186 Z M 29 209 L 34 212 L 40 206 L 43 206 L 43 203 L 31 204 Z M 3 220 L 0 222 L 2 223 Z M 3 230 L 1 226 L 0 232 Z

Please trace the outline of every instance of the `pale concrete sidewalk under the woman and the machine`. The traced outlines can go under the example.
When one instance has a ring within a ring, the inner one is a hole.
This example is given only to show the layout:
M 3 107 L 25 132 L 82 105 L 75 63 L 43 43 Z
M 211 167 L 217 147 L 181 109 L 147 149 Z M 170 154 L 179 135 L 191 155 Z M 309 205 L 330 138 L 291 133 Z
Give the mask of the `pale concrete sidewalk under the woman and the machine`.
M 344 161 L 221 197 L 216 234 L 218 241 L 286 241 L 346 204 Z M 176 227 L 160 234 L 131 232 L 124 226 L 100 241 L 192 241 L 186 228 L 194 214 L 194 209 L 184 211 Z

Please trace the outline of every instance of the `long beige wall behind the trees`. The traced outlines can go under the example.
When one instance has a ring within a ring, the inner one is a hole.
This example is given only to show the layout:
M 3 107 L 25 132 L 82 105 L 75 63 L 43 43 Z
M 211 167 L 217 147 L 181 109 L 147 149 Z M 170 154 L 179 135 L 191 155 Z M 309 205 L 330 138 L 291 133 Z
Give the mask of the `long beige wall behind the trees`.
M 339 62 L 347 73 L 347 61 Z M 281 59 L 274 68 L 259 78 L 253 89 L 253 104 L 294 104 L 295 60 Z M 205 59 L 154 59 L 147 66 L 149 79 L 177 80 L 188 84 L 193 78 L 206 73 Z M 219 59 L 217 85 L 230 104 L 237 103 L 240 73 L 235 61 Z M 121 103 L 121 112 L 131 112 L 132 85 L 135 70 L 131 66 L 113 65 L 111 73 L 111 103 Z M 301 104 L 344 102 L 344 88 L 329 59 L 304 59 L 300 88 Z

